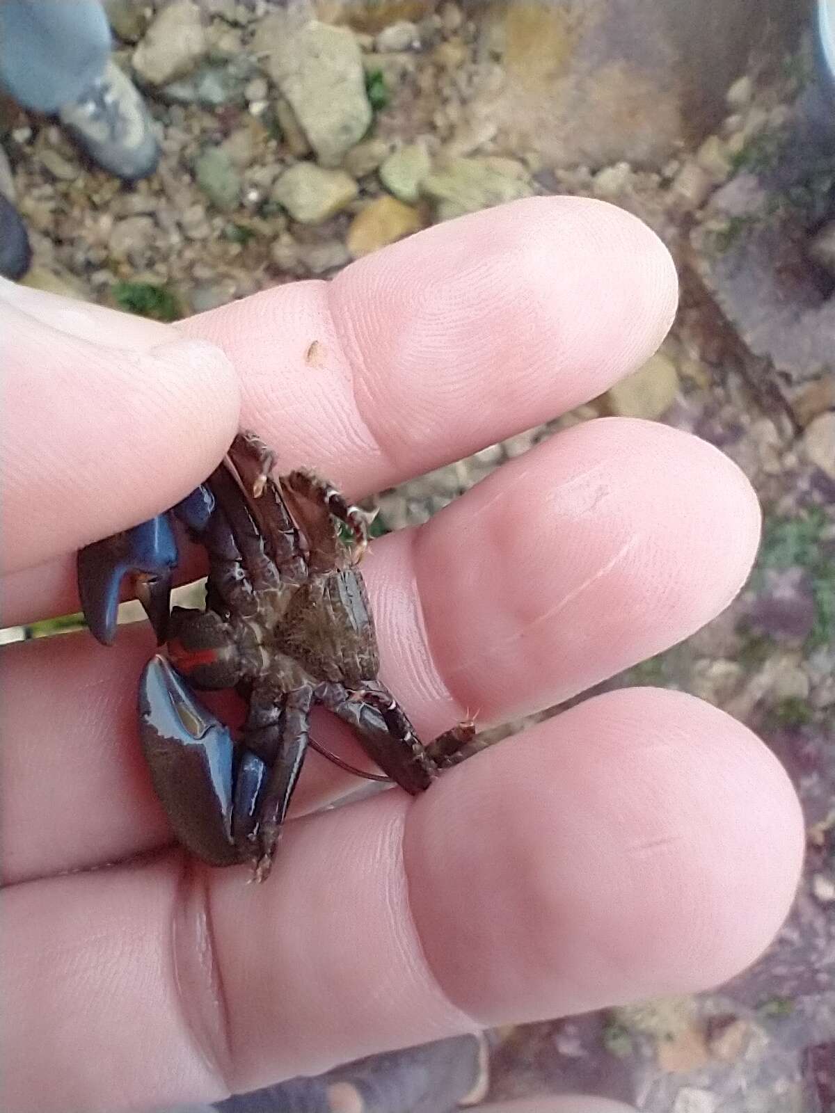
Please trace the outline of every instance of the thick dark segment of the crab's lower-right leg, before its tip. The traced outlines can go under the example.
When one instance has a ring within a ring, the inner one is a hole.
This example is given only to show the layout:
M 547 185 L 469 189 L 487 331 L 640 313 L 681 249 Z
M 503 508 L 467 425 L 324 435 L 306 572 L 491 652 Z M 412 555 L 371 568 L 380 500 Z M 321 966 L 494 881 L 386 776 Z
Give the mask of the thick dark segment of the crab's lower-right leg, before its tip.
M 369 757 L 406 792 L 415 796 L 429 788 L 438 766 L 390 692 L 324 683 L 316 688 L 316 699 L 354 728 Z

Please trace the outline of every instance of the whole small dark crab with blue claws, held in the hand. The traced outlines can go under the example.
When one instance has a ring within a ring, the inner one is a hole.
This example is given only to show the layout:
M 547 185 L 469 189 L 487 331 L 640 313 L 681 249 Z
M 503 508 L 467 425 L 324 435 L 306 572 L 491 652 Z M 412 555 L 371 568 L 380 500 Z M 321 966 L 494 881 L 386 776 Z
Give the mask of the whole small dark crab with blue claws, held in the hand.
M 377 679 L 356 567 L 369 515 L 313 472 L 273 480 L 273 464 L 254 433 L 239 433 L 226 461 L 170 512 L 208 553 L 203 611 L 169 613 L 177 546 L 168 514 L 78 555 L 81 604 L 99 641 L 115 638 L 119 588 L 130 575 L 159 643 L 167 642 L 168 659 L 157 654 L 143 672 L 139 719 L 175 834 L 212 865 L 249 861 L 257 880 L 269 873 L 315 703 L 347 722 L 386 778 L 413 795 L 460 760 L 474 736 L 468 720 L 429 746 L 418 739 Z M 234 688 L 247 700 L 237 742 L 190 687 Z

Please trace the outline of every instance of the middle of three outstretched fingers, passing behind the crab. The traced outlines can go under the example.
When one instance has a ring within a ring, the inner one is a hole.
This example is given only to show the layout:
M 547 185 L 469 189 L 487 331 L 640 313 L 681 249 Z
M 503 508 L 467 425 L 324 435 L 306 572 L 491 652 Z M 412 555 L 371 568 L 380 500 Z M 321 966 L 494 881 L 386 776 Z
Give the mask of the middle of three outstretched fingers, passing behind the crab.
M 425 738 L 468 709 L 485 726 L 551 706 L 727 605 L 758 524 L 747 480 L 705 442 L 646 422 L 576 426 L 375 543 L 364 570 L 382 679 Z M 135 726 L 149 632 L 122 630 L 115 650 L 80 637 L 7 651 L 7 880 L 170 838 Z M 345 778 L 323 784 L 308 765 L 310 807 Z

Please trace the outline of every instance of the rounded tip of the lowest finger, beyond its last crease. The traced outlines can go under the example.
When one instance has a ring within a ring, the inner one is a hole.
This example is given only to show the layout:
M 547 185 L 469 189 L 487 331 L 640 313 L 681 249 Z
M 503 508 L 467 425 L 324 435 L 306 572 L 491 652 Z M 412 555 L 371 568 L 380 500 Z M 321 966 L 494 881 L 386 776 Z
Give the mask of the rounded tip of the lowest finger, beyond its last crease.
M 409 812 L 405 863 L 439 984 L 501 1024 L 737 974 L 788 914 L 803 841 L 796 794 L 750 731 L 635 689 L 441 778 Z

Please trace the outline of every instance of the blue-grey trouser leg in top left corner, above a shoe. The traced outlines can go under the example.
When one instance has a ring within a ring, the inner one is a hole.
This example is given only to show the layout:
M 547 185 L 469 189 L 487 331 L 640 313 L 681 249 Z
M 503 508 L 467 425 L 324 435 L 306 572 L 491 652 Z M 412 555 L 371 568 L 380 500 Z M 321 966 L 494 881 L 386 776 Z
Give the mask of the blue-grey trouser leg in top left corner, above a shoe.
M 99 0 L 0 0 L 0 85 L 24 108 L 78 99 L 110 55 Z

